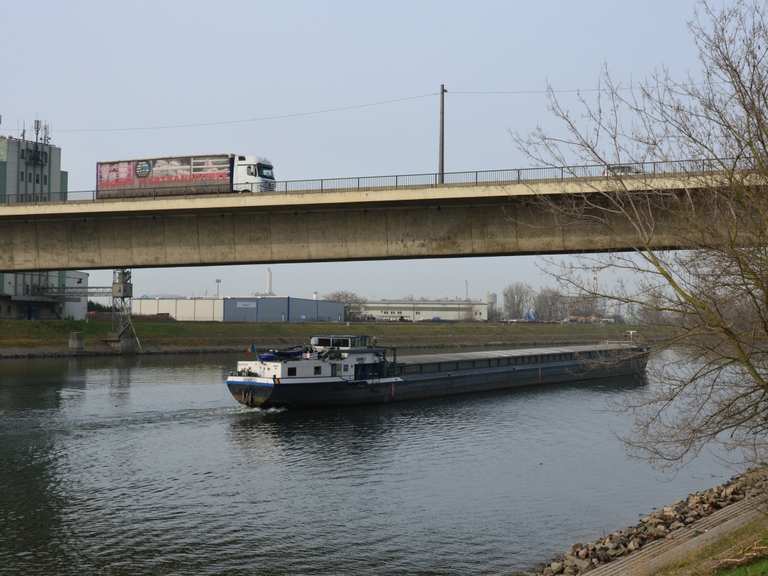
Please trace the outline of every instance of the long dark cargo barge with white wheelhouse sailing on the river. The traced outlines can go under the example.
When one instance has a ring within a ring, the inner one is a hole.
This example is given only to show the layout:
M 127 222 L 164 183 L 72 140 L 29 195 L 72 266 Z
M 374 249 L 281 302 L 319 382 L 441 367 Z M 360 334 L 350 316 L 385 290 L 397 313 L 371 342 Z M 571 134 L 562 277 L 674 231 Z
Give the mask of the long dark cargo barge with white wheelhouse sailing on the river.
M 647 359 L 648 349 L 631 342 L 398 359 L 367 336 L 315 336 L 309 346 L 238 362 L 226 383 L 249 407 L 376 404 L 642 375 Z

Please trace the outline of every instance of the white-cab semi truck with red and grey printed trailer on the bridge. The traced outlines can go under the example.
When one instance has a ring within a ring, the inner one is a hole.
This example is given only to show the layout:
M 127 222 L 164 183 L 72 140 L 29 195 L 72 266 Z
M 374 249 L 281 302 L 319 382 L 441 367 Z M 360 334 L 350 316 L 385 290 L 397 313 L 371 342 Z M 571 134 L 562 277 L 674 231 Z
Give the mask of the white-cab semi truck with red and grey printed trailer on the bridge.
M 274 190 L 272 162 L 258 156 L 166 156 L 96 164 L 97 200 Z

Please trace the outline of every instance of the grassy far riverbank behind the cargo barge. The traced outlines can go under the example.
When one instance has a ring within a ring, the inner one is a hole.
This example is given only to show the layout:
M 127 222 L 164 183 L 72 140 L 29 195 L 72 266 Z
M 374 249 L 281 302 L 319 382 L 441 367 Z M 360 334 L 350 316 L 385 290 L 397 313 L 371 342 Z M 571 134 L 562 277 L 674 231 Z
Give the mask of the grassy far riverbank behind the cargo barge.
M 136 332 L 147 348 L 221 347 L 302 344 L 323 333 L 368 334 L 386 346 L 442 348 L 466 346 L 526 346 L 620 339 L 630 327 L 597 324 L 502 323 L 351 323 L 239 324 L 221 322 L 136 321 Z M 0 320 L 0 351 L 5 349 L 65 349 L 70 332 L 82 332 L 87 350 L 103 350 L 111 330 L 105 321 Z

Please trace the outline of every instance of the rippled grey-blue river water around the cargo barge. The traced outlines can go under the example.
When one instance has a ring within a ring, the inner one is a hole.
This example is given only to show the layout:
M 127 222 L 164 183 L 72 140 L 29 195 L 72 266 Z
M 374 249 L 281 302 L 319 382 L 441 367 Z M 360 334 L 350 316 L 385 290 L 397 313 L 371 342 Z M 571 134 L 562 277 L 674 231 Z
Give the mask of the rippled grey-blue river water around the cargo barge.
M 509 574 L 733 473 L 625 454 L 653 383 L 261 412 L 235 361 L 0 361 L 0 573 Z

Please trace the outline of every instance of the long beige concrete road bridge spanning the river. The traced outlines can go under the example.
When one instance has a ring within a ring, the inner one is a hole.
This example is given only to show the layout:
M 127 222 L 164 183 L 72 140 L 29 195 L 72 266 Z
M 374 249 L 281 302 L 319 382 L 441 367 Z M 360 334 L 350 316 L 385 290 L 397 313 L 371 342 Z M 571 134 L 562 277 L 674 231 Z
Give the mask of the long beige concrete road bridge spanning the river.
M 694 185 L 690 176 L 644 172 L 623 182 L 638 190 L 649 182 L 666 190 Z M 574 226 L 532 201 L 609 191 L 615 178 L 520 173 L 502 182 L 474 173 L 474 181 L 440 186 L 401 180 L 397 187 L 359 188 L 358 179 L 357 187 L 331 190 L 10 204 L 0 206 L 0 271 L 566 254 L 637 245 L 623 222 Z M 664 230 L 655 245 L 675 247 Z

